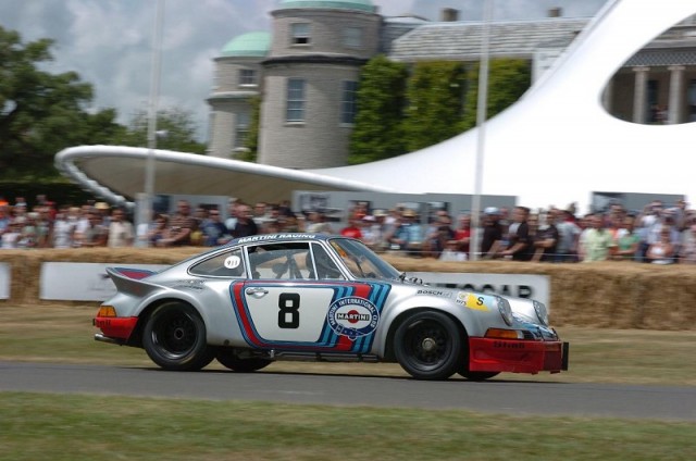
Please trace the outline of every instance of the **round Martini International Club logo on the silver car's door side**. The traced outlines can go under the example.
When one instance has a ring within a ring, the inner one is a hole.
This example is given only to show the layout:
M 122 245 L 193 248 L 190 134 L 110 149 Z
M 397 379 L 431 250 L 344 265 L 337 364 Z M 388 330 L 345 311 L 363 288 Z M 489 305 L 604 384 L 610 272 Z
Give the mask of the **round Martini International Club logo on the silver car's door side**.
M 326 317 L 337 335 L 348 336 L 351 340 L 370 335 L 380 323 L 377 308 L 366 299 L 356 296 L 334 301 Z

